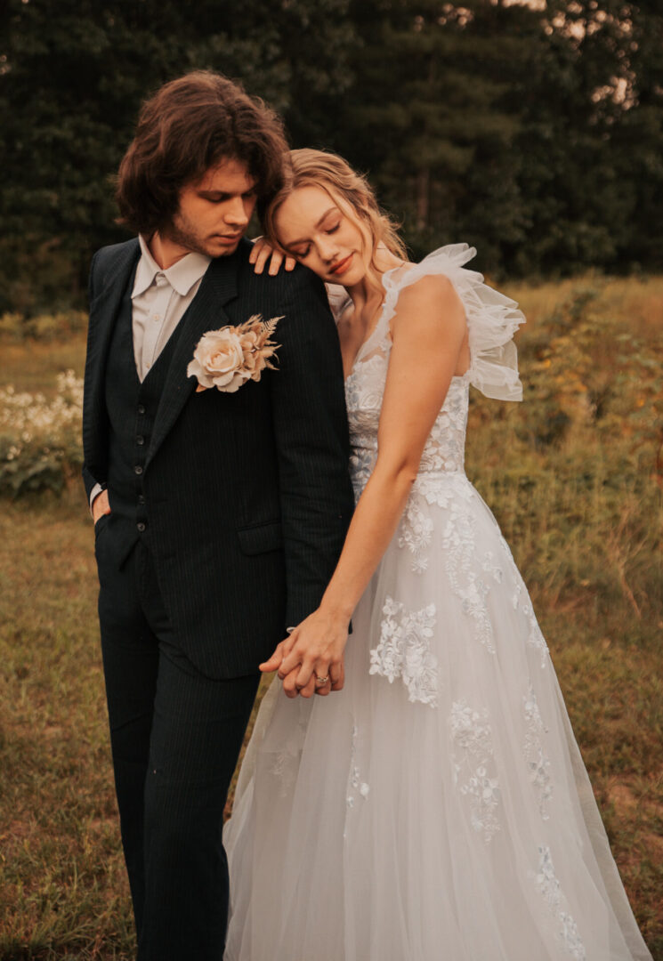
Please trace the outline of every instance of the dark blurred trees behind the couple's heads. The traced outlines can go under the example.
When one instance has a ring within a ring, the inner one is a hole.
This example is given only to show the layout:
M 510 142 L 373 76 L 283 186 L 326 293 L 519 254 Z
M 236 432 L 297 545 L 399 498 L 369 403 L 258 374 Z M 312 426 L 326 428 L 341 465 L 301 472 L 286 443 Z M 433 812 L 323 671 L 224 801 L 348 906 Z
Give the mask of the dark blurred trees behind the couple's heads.
M 0 313 L 85 303 L 140 102 L 198 67 L 367 172 L 415 257 L 663 267 L 659 0 L 4 0 Z

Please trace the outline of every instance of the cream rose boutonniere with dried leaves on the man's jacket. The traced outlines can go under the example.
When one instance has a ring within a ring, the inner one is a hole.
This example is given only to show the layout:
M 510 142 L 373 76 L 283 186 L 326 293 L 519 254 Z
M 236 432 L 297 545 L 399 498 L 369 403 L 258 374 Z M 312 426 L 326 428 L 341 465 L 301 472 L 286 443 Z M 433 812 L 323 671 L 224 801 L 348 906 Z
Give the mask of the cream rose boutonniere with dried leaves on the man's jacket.
M 282 317 L 263 321 L 259 313 L 243 324 L 204 333 L 186 368 L 187 377 L 196 377 L 196 392 L 216 387 L 233 394 L 246 381 L 259 381 L 262 371 L 276 370 L 270 359 L 281 344 L 269 338 Z

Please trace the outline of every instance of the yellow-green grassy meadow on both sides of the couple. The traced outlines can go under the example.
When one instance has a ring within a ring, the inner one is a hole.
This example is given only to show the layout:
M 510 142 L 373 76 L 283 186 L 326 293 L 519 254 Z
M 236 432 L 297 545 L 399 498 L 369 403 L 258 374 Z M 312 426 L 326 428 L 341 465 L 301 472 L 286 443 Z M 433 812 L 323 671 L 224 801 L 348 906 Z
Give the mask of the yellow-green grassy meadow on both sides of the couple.
M 475 400 L 468 474 L 528 582 L 631 903 L 663 961 L 663 280 L 509 292 L 531 322 L 527 403 Z M 2 344 L 0 387 L 48 395 L 62 369 L 82 372 L 84 351 L 81 337 Z M 60 498 L 0 503 L 0 961 L 133 956 L 92 539 L 77 480 Z

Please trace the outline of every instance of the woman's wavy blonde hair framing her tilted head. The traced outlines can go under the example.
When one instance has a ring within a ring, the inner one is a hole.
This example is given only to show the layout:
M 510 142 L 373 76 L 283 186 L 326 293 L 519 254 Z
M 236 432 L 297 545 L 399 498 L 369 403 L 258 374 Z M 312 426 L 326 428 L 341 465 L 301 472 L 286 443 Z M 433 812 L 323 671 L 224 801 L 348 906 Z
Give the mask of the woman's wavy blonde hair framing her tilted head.
M 347 160 L 325 150 L 291 150 L 285 160 L 283 185 L 264 211 L 263 229 L 267 239 L 282 250 L 276 230 L 276 216 L 283 202 L 302 186 L 318 186 L 327 190 L 332 199 L 340 199 L 352 209 L 372 243 L 370 268 L 379 276 L 376 252 L 383 244 L 396 257 L 406 260 L 405 244 L 391 217 L 380 209 L 373 188 L 361 174 L 356 173 Z M 334 196 L 335 195 L 335 196 Z

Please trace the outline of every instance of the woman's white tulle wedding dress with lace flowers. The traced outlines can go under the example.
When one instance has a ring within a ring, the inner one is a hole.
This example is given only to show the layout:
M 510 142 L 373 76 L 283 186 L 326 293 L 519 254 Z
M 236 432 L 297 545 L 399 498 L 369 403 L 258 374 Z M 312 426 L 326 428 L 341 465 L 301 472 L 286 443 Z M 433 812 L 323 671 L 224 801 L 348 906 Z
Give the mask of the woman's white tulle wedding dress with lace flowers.
M 260 707 L 224 841 L 226 961 L 651 961 L 528 591 L 465 476 L 470 384 L 517 400 L 513 301 L 445 247 L 384 276 L 348 378 L 352 474 L 377 456 L 389 321 L 446 275 L 471 367 L 430 432 L 353 617 L 346 684 Z

